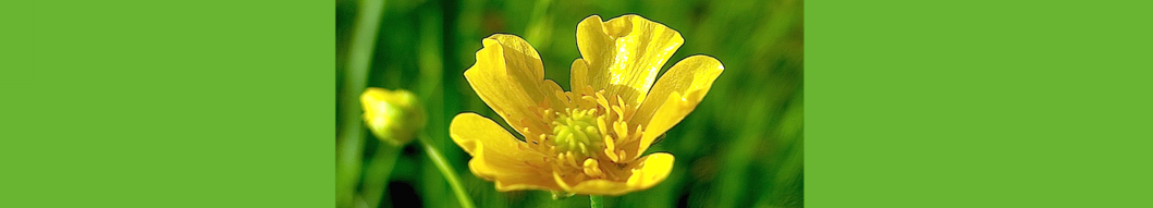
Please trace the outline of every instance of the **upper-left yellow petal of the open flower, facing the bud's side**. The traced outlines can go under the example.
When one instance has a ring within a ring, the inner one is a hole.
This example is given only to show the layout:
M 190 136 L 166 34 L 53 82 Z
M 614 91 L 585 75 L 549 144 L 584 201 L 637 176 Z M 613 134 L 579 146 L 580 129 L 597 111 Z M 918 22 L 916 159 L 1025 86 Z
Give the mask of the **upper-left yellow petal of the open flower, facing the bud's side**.
M 525 39 L 502 34 L 484 38 L 484 49 L 476 52 L 476 64 L 465 70 L 465 79 L 521 135 L 526 127 L 536 134 L 548 131 L 536 111 L 556 102 L 549 98 L 556 96 L 544 86 L 540 54 Z

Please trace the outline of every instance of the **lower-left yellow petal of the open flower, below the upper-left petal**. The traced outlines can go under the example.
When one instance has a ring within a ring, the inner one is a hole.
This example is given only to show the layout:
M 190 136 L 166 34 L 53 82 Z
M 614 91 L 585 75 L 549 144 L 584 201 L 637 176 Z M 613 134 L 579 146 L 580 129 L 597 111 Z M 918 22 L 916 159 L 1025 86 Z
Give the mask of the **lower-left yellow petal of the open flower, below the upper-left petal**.
M 560 190 L 544 155 L 517 140 L 491 119 L 460 113 L 449 125 L 452 141 L 473 155 L 468 169 L 496 181 L 497 190 Z

